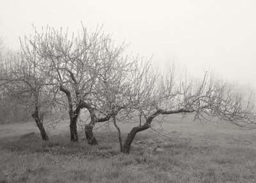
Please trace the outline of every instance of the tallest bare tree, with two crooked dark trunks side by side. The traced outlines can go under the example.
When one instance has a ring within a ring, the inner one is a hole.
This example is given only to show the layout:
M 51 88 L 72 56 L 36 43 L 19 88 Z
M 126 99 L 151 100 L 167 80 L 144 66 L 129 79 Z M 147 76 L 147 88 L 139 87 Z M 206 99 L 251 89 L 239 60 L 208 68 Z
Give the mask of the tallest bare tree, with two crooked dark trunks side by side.
M 85 125 L 88 143 L 97 144 L 93 135 L 95 123 L 106 122 L 111 118 L 109 114 L 101 112 L 102 103 L 98 100 L 102 88 L 102 79 L 109 79 L 106 70 L 123 67 L 128 69 L 132 63 L 123 53 L 127 45 L 114 45 L 109 35 L 104 35 L 97 28 L 88 33 L 83 27 L 77 36 L 68 36 L 67 32 L 46 28 L 42 33 L 35 30 L 35 36 L 25 37 L 22 52 L 36 56 L 41 60 L 33 63 L 36 68 L 44 71 L 56 82 L 67 99 L 68 114 L 70 116 L 70 138 L 78 141 L 77 118 L 81 109 L 85 108 L 90 114 L 90 123 Z M 115 68 L 116 67 L 116 68 Z

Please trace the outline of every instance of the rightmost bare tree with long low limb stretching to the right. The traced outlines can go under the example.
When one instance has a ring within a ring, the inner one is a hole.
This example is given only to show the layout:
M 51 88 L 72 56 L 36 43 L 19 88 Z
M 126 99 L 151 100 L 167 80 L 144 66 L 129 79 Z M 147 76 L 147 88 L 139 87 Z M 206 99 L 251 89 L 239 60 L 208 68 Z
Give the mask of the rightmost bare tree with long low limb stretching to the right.
M 180 113 L 185 116 L 193 113 L 194 119 L 200 122 L 222 121 L 239 127 L 252 127 L 255 124 L 250 98 L 245 100 L 239 93 L 234 95 L 231 85 L 217 79 L 212 73 L 205 72 L 201 80 L 194 81 L 186 78 L 186 74 L 183 79 L 176 78 L 174 67 L 167 74 L 159 74 L 150 65 L 144 65 L 130 74 L 128 78 L 131 81 L 116 80 L 113 88 L 108 87 L 109 92 L 106 92 L 107 97 L 111 96 L 108 101 L 113 104 L 112 109 L 118 109 L 112 113 L 112 117 L 118 129 L 120 150 L 125 154 L 129 153 L 136 134 L 151 128 L 152 123 L 163 115 Z M 138 121 L 124 143 L 116 116 L 122 122 L 124 119 L 128 119 L 128 122 L 131 119 Z

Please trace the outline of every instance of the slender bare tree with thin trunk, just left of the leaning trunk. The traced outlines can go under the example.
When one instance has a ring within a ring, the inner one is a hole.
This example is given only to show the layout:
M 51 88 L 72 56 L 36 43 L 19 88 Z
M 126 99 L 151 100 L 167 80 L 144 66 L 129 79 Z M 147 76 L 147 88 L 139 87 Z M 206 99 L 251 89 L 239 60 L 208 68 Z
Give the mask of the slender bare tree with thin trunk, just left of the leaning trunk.
M 110 116 L 118 131 L 121 151 L 122 134 L 117 122 L 134 120 L 137 107 L 153 92 L 152 86 L 156 81 L 156 78 L 148 75 L 152 74 L 150 62 L 136 56 L 130 63 L 129 67 L 121 64 L 111 68 L 105 67 L 108 69 L 103 72 L 103 76 L 99 75 L 100 90 L 95 95 L 101 104 L 100 113 Z

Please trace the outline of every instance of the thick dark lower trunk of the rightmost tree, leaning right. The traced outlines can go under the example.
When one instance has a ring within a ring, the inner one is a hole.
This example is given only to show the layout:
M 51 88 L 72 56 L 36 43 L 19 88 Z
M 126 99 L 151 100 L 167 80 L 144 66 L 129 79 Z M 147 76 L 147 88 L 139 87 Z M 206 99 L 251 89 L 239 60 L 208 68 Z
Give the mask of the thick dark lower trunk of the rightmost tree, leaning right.
M 136 136 L 136 134 L 140 131 L 145 131 L 148 128 L 149 127 L 147 125 L 142 125 L 141 127 L 132 128 L 131 132 L 128 134 L 127 138 L 125 139 L 122 152 L 124 154 L 129 154 L 130 148 L 131 148 L 131 145 L 132 145 L 132 141 L 133 141 L 134 137 Z

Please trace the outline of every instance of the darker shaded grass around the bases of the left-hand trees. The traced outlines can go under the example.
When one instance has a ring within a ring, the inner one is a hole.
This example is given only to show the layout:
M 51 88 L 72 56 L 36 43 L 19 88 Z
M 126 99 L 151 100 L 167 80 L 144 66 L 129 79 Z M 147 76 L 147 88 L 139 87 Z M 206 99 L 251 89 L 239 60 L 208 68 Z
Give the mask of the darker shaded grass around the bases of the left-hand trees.
M 99 137 L 100 145 L 91 146 L 83 138 L 79 142 L 71 142 L 69 138 L 62 135 L 51 136 L 50 141 L 43 141 L 40 134 L 31 132 L 1 139 L 0 149 L 19 154 L 49 153 L 92 160 L 120 154 L 118 143 L 113 140 L 115 136 L 109 136 L 107 141 L 104 134 L 100 134 Z

